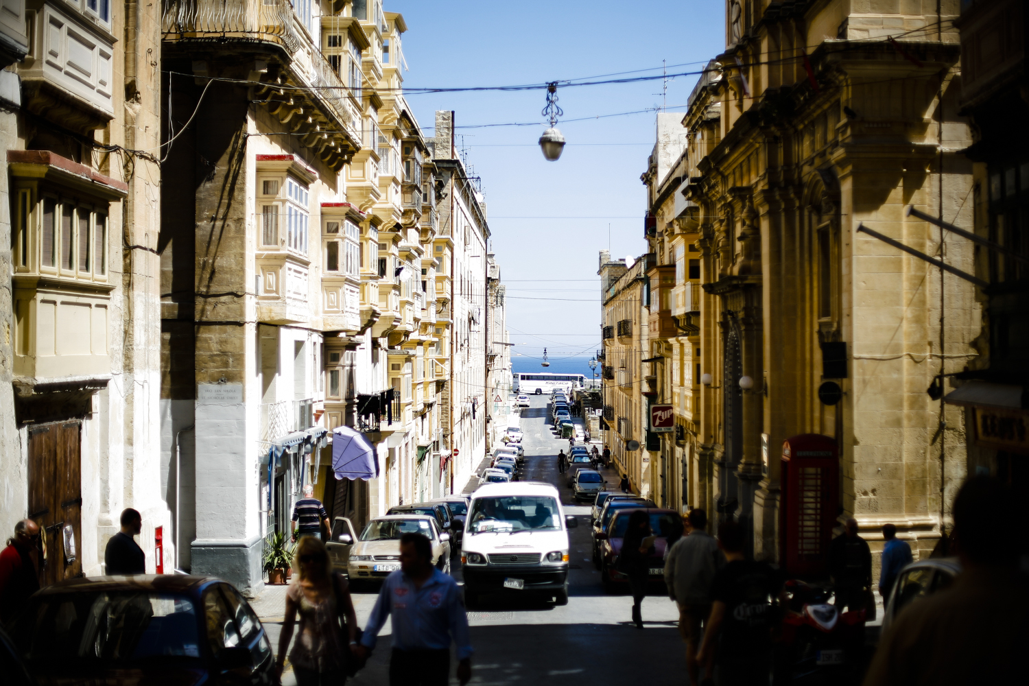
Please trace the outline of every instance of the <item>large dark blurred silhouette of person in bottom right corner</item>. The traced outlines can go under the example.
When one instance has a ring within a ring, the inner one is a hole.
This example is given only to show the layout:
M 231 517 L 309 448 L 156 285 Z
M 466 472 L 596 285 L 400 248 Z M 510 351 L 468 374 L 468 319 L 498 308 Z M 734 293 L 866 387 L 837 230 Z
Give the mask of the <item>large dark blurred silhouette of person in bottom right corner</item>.
M 1017 522 L 1024 511 L 1014 499 L 989 476 L 961 486 L 951 508 L 961 574 L 946 590 L 907 606 L 890 624 L 866 685 L 1022 683 L 1029 585 L 1019 569 L 1024 530 Z

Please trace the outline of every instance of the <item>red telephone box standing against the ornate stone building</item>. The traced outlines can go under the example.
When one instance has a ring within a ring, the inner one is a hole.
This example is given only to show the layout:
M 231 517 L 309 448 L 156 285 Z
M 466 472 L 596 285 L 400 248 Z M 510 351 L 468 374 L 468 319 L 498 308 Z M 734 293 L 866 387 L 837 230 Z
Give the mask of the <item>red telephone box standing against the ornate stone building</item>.
M 782 445 L 782 564 L 791 576 L 827 574 L 829 541 L 840 512 L 837 442 L 801 434 Z

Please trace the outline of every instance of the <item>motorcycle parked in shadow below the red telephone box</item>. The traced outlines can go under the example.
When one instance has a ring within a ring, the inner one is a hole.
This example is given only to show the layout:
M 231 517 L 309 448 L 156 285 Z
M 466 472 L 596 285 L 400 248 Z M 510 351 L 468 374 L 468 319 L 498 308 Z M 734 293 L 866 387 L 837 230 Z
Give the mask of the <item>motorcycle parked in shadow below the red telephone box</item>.
M 859 684 L 865 611 L 840 612 L 832 589 L 786 582 L 786 608 L 776 646 L 775 684 Z

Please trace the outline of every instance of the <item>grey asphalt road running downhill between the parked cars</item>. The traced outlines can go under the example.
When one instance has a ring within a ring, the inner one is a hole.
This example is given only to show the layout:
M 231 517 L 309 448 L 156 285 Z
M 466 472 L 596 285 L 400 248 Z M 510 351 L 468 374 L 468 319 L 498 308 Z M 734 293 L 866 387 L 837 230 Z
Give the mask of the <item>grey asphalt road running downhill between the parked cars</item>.
M 559 479 L 557 455 L 567 448 L 567 439 L 557 439 L 546 419 L 546 396 L 530 396 L 532 407 L 523 410 L 523 444 L 526 452 L 524 480 L 547 481 L 558 486 L 567 514 L 579 516 L 571 534 L 571 571 L 568 605 L 554 607 L 548 602 L 511 594 L 486 597 L 468 613 L 471 640 L 472 684 L 636 684 L 682 686 L 686 682 L 684 651 L 675 623 L 675 604 L 653 588 L 643 602 L 645 628 L 630 623 L 632 599 L 607 594 L 600 574 L 591 562 L 589 507 L 576 506 L 565 479 Z M 608 472 L 609 486 L 617 475 Z M 461 580 L 455 558 L 454 577 Z M 375 593 L 355 593 L 358 621 L 363 626 L 376 601 Z M 279 624 L 264 621 L 277 641 Z M 351 683 L 372 686 L 388 683 L 389 624 L 380 634 L 379 644 L 368 661 Z M 276 644 L 277 646 L 277 644 Z M 457 684 L 453 677 L 451 683 Z M 290 675 L 291 676 L 291 675 Z M 289 683 L 288 679 L 283 680 Z

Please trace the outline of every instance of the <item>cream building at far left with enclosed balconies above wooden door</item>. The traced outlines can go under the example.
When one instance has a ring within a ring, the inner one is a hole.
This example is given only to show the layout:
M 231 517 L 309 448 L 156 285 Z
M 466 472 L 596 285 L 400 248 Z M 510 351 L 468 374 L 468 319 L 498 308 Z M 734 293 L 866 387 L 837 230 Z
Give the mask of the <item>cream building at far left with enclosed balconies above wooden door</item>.
M 103 573 L 123 508 L 171 571 L 159 462 L 161 8 L 0 8 L 0 531 L 44 582 Z

